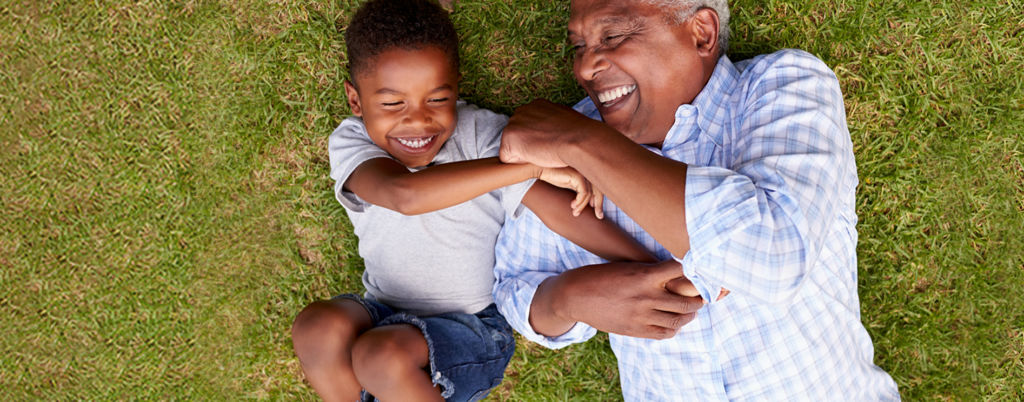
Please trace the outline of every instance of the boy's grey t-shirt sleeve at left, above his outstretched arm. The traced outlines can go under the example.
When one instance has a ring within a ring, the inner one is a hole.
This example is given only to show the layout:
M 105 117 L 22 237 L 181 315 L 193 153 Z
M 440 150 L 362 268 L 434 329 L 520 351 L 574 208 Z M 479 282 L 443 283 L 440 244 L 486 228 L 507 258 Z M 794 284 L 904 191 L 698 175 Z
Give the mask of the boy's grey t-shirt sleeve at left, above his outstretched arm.
M 345 208 L 353 212 L 362 212 L 369 204 L 354 192 L 345 190 L 345 181 L 364 162 L 391 157 L 370 140 L 367 128 L 359 118 L 348 118 L 341 122 L 328 138 L 327 148 L 331 161 L 335 197 Z

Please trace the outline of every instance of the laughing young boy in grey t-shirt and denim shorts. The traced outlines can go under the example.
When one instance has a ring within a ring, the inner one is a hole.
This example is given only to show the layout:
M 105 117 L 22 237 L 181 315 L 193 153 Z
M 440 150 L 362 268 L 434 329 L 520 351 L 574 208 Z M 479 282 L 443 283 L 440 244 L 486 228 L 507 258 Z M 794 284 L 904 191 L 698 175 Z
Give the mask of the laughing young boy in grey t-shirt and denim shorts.
M 355 117 L 330 137 L 331 177 L 359 237 L 367 295 L 307 306 L 292 328 L 296 354 L 325 400 L 362 390 L 381 400 L 483 398 L 515 346 L 493 304 L 492 270 L 498 232 L 520 202 L 602 257 L 652 258 L 593 215 L 575 171 L 495 158 L 507 118 L 457 101 L 458 39 L 437 4 L 373 0 L 345 40 Z

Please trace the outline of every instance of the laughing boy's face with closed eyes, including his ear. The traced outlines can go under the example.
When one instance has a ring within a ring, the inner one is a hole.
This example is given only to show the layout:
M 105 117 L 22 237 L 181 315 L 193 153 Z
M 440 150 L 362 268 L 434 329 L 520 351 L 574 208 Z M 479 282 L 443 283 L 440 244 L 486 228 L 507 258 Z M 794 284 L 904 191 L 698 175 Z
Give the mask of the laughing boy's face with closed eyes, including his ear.
M 444 51 L 387 50 L 353 79 L 358 90 L 345 82 L 348 105 L 370 139 L 407 167 L 430 164 L 458 120 L 459 72 Z

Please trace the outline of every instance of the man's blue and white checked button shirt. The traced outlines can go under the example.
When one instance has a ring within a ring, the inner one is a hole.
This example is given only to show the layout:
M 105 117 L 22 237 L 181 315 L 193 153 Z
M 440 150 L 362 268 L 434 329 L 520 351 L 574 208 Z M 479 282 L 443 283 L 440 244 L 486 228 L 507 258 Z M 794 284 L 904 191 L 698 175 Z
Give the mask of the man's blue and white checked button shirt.
M 589 98 L 575 109 L 600 119 Z M 680 261 L 711 303 L 670 340 L 610 334 L 625 399 L 898 400 L 860 322 L 857 172 L 833 72 L 797 50 L 723 56 L 650 150 L 689 166 L 690 251 L 670 255 L 610 202 L 605 219 Z M 495 299 L 516 330 L 549 348 L 596 333 L 581 322 L 547 338 L 528 314 L 545 278 L 603 260 L 529 212 L 506 221 L 496 253 Z

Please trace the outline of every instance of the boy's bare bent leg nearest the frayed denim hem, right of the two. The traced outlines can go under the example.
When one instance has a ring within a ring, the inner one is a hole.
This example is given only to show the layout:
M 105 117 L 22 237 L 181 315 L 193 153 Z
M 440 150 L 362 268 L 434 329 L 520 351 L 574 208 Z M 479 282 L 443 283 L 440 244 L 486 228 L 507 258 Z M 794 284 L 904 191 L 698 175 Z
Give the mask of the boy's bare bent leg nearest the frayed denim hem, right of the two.
M 420 328 L 383 325 L 356 340 L 352 365 L 359 384 L 382 401 L 443 401 L 426 370 L 429 356 Z

